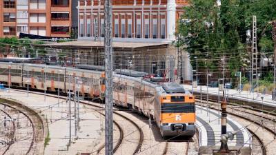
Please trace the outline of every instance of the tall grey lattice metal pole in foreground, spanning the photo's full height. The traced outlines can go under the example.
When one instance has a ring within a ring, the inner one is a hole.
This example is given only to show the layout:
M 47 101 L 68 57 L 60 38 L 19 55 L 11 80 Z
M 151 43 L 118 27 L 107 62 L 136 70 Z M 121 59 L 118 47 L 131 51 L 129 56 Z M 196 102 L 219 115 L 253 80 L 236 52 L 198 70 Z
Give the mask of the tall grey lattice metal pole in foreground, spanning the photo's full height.
M 104 36 L 104 51 L 105 51 L 105 75 L 106 75 L 106 117 L 105 117 L 105 132 L 106 132 L 106 155 L 113 154 L 113 49 L 112 49 L 112 1 L 106 0 L 104 6 L 105 14 L 105 36 Z

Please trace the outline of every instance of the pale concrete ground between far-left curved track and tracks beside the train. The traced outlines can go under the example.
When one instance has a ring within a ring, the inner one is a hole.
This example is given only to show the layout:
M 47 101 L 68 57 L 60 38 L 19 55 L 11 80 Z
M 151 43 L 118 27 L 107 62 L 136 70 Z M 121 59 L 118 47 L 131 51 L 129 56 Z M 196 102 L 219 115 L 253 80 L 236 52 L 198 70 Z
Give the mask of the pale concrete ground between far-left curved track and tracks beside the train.
M 69 141 L 69 117 L 68 103 L 60 99 L 46 96 L 44 101 L 43 95 L 29 94 L 14 90 L 1 91 L 0 97 L 20 101 L 24 105 L 41 112 L 48 122 L 50 141 L 45 148 L 45 154 L 80 154 L 91 152 L 92 149 L 100 143 L 104 134 L 101 130 L 101 123 L 104 118 L 91 109 L 80 105 L 79 115 L 81 121 L 75 135 L 75 117 L 74 102 L 72 104 L 72 143 L 68 147 Z

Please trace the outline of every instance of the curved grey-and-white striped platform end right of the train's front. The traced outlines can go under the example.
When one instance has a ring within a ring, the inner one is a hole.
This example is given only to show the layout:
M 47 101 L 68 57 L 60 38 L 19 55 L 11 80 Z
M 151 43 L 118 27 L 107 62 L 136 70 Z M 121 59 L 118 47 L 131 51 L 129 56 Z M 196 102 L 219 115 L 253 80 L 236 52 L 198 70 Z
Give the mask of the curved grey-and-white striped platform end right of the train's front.
M 215 110 L 197 106 L 197 129 L 199 130 L 199 147 L 220 146 L 221 119 L 220 114 Z M 239 131 L 233 141 L 228 141 L 228 146 L 251 147 L 252 139 L 248 130 L 242 125 L 233 121 L 228 116 L 227 132 Z

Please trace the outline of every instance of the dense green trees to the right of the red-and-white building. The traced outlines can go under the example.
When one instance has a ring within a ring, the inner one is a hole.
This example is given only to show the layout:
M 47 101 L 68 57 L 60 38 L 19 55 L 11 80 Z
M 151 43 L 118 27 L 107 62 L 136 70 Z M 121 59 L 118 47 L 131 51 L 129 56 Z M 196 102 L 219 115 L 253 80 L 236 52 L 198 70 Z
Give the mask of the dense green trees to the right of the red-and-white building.
M 185 47 L 199 70 L 221 72 L 226 58 L 227 78 L 235 72 L 249 70 L 247 30 L 252 30 L 253 15 L 257 16 L 257 45 L 260 52 L 273 53 L 270 21 L 276 20 L 275 0 L 191 0 L 177 25 L 177 46 Z M 217 75 L 218 78 L 221 75 Z

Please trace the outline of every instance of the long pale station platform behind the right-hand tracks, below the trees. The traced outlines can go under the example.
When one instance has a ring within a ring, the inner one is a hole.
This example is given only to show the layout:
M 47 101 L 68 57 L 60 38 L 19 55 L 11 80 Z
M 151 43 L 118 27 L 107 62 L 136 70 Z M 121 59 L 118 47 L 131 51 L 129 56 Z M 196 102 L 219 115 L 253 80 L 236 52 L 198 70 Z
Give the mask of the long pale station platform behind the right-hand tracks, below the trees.
M 202 86 L 199 85 L 193 89 L 191 85 L 182 85 L 182 86 L 185 89 L 188 89 L 190 92 L 193 90 L 194 92 L 200 93 L 200 88 L 201 88 L 201 92 L 203 94 L 207 93 L 207 86 L 205 85 L 202 85 Z M 218 87 L 208 87 L 208 93 L 217 95 L 218 89 L 219 89 Z M 239 92 L 238 90 L 234 90 L 234 89 L 226 89 L 226 95 L 228 96 L 228 98 L 231 98 L 231 99 L 238 99 L 241 101 L 259 103 L 259 104 L 264 103 L 264 105 L 276 107 L 276 101 L 272 101 L 272 96 L 270 94 L 262 94 L 257 92 L 250 93 L 248 91 Z M 222 96 L 222 91 L 220 91 L 220 96 Z M 262 97 L 264 97 L 263 101 L 262 101 Z

